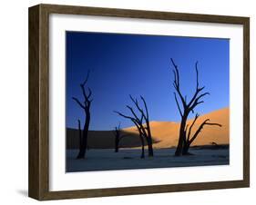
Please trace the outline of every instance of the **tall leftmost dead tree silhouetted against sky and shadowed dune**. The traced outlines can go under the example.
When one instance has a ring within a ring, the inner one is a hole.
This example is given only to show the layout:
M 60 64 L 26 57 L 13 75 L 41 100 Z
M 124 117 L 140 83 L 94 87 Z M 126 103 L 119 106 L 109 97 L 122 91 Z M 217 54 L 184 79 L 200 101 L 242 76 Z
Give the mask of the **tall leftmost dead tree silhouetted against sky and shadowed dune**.
M 92 92 L 90 88 L 87 87 L 88 78 L 89 78 L 89 72 L 87 73 L 87 78 L 84 81 L 84 83 L 80 84 L 80 88 L 82 90 L 83 97 L 84 97 L 84 102 L 80 102 L 76 97 L 73 97 L 73 100 L 77 102 L 77 104 L 83 109 L 85 113 L 85 124 L 84 124 L 83 134 L 81 137 L 77 159 L 85 158 L 86 152 L 87 152 L 87 138 L 88 138 L 88 129 L 90 124 L 90 106 L 92 102 L 92 99 L 91 99 Z M 88 90 L 88 92 L 86 90 Z

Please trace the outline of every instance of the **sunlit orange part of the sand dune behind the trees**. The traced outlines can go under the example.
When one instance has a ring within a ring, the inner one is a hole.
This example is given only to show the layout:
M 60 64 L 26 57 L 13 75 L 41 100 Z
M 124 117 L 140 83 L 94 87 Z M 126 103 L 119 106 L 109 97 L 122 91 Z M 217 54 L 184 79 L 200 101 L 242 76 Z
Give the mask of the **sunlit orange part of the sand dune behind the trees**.
M 210 119 L 210 122 L 220 123 L 222 127 L 205 125 L 197 139 L 192 143 L 192 145 L 205 145 L 210 144 L 211 142 L 216 142 L 218 144 L 229 144 L 229 117 L 229 108 L 224 108 L 200 116 L 195 125 L 193 126 L 191 135 L 197 131 L 200 124 L 206 119 Z M 193 120 L 189 120 L 188 123 L 190 124 L 192 121 Z M 179 137 L 178 122 L 150 122 L 150 128 L 153 139 L 158 141 L 158 143 L 154 144 L 154 147 L 166 148 L 177 146 Z M 127 128 L 124 130 L 126 132 L 137 132 L 135 127 Z

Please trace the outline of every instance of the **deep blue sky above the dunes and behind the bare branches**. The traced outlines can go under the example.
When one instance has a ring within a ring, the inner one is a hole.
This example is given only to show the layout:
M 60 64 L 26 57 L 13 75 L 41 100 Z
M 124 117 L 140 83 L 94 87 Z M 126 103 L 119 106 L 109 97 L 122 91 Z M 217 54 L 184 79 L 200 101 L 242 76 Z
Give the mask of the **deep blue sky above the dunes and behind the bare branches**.
M 229 39 L 67 32 L 67 127 L 84 122 L 83 111 L 72 100 L 82 98 L 79 83 L 90 70 L 92 90 L 90 130 L 112 130 L 132 123 L 113 111 L 128 113 L 128 94 L 143 95 L 150 121 L 178 122 L 170 58 L 179 66 L 182 93 L 189 99 L 195 91 L 195 63 L 199 61 L 200 85 L 210 95 L 196 112 L 229 106 Z M 192 117 L 192 116 L 190 116 Z

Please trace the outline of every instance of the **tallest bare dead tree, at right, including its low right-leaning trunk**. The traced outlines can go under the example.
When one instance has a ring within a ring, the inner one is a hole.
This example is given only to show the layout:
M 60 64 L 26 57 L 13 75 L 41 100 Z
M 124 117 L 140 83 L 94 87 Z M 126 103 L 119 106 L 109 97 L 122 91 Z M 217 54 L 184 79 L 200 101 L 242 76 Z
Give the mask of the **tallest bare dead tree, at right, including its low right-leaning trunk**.
M 195 93 L 192 95 L 191 99 L 187 102 L 187 96 L 183 95 L 180 91 L 180 82 L 179 82 L 179 69 L 178 66 L 174 63 L 173 59 L 171 58 L 171 63 L 174 67 L 173 69 L 173 73 L 174 73 L 174 82 L 173 82 L 173 86 L 174 89 L 176 90 L 176 93 L 174 92 L 174 98 L 175 98 L 175 102 L 177 103 L 178 109 L 179 109 L 179 114 L 181 117 L 181 122 L 180 122 L 180 127 L 179 127 L 179 142 L 177 145 L 177 149 L 175 151 L 175 156 L 180 156 L 180 155 L 186 155 L 189 154 L 189 146 L 192 142 L 194 142 L 194 140 L 198 137 L 200 131 L 203 129 L 204 125 L 217 125 L 217 126 L 221 126 L 219 123 L 210 123 L 210 119 L 205 120 L 204 122 L 202 122 L 200 124 L 200 127 L 198 128 L 198 130 L 196 132 L 194 132 L 194 135 L 192 137 L 190 137 L 191 135 L 191 130 L 192 127 L 194 126 L 195 122 L 197 121 L 197 119 L 199 118 L 199 114 L 197 113 L 194 121 L 191 123 L 191 125 L 189 126 L 189 124 L 187 124 L 187 120 L 189 117 L 189 113 L 190 112 L 194 112 L 194 109 L 200 104 L 203 103 L 203 101 L 201 100 L 201 98 L 207 94 L 210 93 L 203 93 L 203 89 L 205 88 L 200 87 L 199 85 L 199 71 L 198 71 L 198 62 L 196 62 L 195 64 L 195 68 L 196 68 L 196 90 Z M 179 100 L 178 100 L 178 97 Z M 181 103 L 181 106 L 179 105 L 179 103 Z M 189 131 L 188 131 L 189 129 Z

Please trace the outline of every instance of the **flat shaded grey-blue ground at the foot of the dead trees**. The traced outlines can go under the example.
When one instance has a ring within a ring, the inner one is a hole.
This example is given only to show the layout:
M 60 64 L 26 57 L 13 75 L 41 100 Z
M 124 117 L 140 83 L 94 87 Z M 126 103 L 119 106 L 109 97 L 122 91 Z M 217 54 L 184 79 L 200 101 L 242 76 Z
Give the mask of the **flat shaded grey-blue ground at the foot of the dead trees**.
M 206 165 L 228 165 L 228 145 L 198 146 L 190 148 L 191 155 L 174 157 L 175 148 L 155 149 L 154 157 L 140 159 L 139 149 L 91 149 L 87 158 L 76 160 L 77 150 L 67 150 L 67 172 L 71 171 L 113 171 L 149 168 L 189 167 Z

